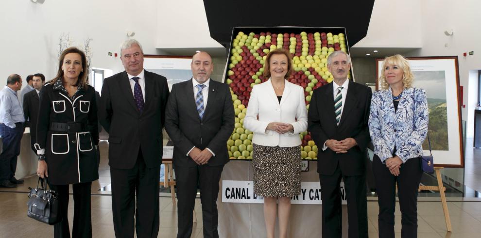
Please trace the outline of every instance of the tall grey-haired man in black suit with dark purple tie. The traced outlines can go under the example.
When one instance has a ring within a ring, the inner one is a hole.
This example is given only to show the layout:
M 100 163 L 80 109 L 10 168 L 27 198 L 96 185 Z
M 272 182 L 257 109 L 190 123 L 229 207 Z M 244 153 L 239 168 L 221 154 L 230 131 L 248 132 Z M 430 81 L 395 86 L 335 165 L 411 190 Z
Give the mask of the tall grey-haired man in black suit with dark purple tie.
M 134 237 L 135 214 L 137 237 L 157 237 L 169 88 L 165 77 L 143 69 L 142 47 L 136 40 L 122 44 L 120 59 L 125 71 L 103 81 L 99 105 L 99 121 L 109 133 L 115 236 Z

